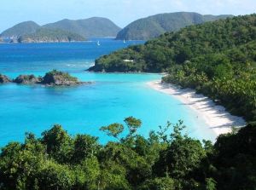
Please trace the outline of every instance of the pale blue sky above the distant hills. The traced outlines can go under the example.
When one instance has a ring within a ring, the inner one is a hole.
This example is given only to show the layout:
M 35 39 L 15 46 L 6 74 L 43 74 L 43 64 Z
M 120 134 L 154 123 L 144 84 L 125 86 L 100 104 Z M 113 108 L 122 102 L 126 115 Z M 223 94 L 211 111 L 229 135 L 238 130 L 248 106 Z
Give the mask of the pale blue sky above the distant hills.
M 106 17 L 124 27 L 153 14 L 253 14 L 256 0 L 0 0 L 0 32 L 22 21 L 39 25 L 62 19 Z

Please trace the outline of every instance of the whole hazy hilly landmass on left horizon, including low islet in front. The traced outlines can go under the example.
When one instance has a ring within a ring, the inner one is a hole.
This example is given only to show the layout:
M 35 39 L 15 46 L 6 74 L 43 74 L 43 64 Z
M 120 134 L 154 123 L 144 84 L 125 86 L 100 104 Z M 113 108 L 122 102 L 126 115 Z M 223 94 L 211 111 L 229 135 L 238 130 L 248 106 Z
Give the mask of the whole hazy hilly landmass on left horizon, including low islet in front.
M 102 17 L 64 19 L 44 26 L 39 26 L 34 21 L 25 21 L 3 31 L 0 43 L 81 42 L 91 37 L 115 37 L 119 31 L 119 26 L 113 21 Z

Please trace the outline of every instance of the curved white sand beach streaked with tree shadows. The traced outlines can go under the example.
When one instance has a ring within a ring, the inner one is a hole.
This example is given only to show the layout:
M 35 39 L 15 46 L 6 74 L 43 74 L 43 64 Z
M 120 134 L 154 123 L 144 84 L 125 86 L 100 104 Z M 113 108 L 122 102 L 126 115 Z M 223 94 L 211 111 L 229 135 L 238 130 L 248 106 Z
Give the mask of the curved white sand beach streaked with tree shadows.
M 224 107 L 216 105 L 206 96 L 195 94 L 193 89 L 178 89 L 172 84 L 160 83 L 160 81 L 149 82 L 148 85 L 160 92 L 173 95 L 183 104 L 194 109 L 216 135 L 229 133 L 232 127 L 241 127 L 246 124 L 243 118 L 231 115 L 225 111 Z

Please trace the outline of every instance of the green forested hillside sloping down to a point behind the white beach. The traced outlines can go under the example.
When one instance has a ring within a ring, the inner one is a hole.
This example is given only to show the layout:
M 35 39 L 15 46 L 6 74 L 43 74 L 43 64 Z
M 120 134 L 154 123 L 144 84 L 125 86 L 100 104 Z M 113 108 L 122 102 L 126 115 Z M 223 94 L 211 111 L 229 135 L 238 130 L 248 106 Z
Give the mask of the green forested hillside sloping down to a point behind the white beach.
M 256 120 L 256 14 L 188 26 L 104 55 L 94 72 L 168 72 L 164 82 L 196 89 Z

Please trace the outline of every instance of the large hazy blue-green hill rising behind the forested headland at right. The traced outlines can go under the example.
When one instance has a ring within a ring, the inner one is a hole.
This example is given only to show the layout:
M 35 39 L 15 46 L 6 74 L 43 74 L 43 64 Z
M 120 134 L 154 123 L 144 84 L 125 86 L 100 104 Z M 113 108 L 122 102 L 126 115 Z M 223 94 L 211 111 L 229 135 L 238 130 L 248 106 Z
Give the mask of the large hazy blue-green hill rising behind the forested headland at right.
M 116 39 L 148 40 L 159 37 L 165 32 L 177 32 L 180 28 L 201 24 L 207 21 L 225 19 L 232 15 L 202 15 L 189 12 L 177 12 L 170 14 L 156 14 L 139 19 L 121 30 Z

